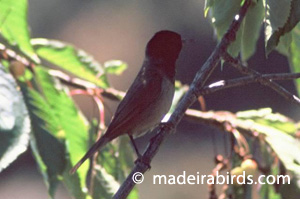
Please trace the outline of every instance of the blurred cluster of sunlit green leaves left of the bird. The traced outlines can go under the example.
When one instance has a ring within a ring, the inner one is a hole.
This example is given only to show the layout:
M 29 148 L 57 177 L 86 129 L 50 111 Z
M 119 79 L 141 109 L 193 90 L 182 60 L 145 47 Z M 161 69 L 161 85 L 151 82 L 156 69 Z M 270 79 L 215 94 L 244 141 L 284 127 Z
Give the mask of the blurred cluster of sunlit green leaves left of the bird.
M 14 61 L 3 60 L 5 67 L 1 65 L 0 71 L 3 106 L 0 119 L 0 170 L 26 150 L 31 127 L 30 146 L 51 198 L 55 198 L 60 181 L 76 199 L 91 198 L 90 194 L 94 198 L 112 196 L 118 188 L 115 185 L 124 180 L 132 166 L 133 160 L 129 158 L 132 149 L 124 145 L 123 141 L 107 146 L 109 155 L 106 155 L 105 160 L 99 159 L 103 168 L 93 178 L 97 189 L 88 192 L 88 162 L 74 175 L 70 175 L 69 170 L 89 148 L 90 124 L 73 102 L 68 87 L 61 84 L 57 77 L 50 75 L 49 66 L 35 64 L 45 60 L 52 64 L 50 67 L 58 67 L 101 89 L 109 87 L 107 73 L 120 75 L 127 64 L 120 60 L 110 60 L 102 67 L 91 55 L 71 44 L 30 39 L 27 1 L 1 1 L 0 5 L 3 22 L 1 36 L 7 41 L 6 47 L 18 53 L 10 54 Z M 30 62 L 34 66 L 28 69 Z M 94 141 L 95 139 L 92 140 Z M 116 151 L 111 153 L 112 150 Z M 105 166 L 108 163 L 109 166 Z M 114 172 L 118 173 L 113 174 Z

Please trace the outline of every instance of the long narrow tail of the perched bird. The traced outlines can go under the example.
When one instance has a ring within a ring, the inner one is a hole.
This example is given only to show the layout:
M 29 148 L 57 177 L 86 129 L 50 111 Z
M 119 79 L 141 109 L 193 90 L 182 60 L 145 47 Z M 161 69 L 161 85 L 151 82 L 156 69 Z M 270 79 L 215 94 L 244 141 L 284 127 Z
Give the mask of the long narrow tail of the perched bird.
M 79 162 L 70 170 L 71 174 L 74 174 L 77 169 L 86 161 L 88 158 L 90 158 L 94 153 L 96 153 L 98 150 L 102 149 L 108 142 L 110 141 L 109 138 L 106 136 L 101 137 L 89 150 L 88 152 L 79 160 Z

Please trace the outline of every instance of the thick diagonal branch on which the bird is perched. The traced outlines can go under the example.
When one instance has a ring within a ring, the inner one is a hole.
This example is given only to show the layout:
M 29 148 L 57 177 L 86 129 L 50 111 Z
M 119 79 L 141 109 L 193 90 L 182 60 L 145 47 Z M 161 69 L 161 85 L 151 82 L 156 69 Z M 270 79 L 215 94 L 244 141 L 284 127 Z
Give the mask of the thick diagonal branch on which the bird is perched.
M 132 180 L 133 174 L 136 172 L 145 173 L 148 170 L 148 165 L 151 160 L 158 152 L 160 145 L 166 138 L 166 136 L 174 131 L 178 123 L 181 121 L 184 116 L 185 111 L 191 106 L 197 98 L 197 90 L 201 89 L 204 86 L 204 83 L 207 81 L 208 77 L 211 75 L 213 70 L 216 68 L 217 64 L 221 60 L 221 56 L 226 52 L 229 44 L 231 44 L 236 37 L 236 32 L 238 31 L 242 20 L 244 19 L 247 10 L 251 4 L 252 0 L 246 0 L 244 5 L 240 8 L 239 17 L 237 20 L 233 20 L 228 31 L 223 36 L 222 40 L 215 48 L 211 56 L 204 63 L 201 69 L 197 72 L 189 91 L 184 95 L 183 99 L 179 102 L 178 107 L 175 109 L 174 113 L 169 119 L 169 128 L 160 128 L 158 134 L 151 139 L 146 151 L 142 156 L 142 161 L 139 161 L 131 173 L 128 175 L 124 183 L 120 186 L 117 193 L 114 195 L 114 199 L 125 199 L 128 194 L 131 192 L 135 183 Z

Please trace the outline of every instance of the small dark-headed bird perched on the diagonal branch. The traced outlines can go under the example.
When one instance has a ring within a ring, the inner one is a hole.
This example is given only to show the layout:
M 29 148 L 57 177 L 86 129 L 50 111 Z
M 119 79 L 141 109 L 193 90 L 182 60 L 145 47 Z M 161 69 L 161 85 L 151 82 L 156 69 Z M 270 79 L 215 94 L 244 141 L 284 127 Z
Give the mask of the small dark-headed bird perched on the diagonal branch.
M 146 46 L 142 68 L 120 102 L 106 133 L 71 169 L 71 173 L 111 140 L 128 134 L 133 142 L 133 136 L 142 135 L 160 123 L 172 104 L 175 62 L 181 48 L 181 36 L 176 32 L 162 30 L 151 38 Z

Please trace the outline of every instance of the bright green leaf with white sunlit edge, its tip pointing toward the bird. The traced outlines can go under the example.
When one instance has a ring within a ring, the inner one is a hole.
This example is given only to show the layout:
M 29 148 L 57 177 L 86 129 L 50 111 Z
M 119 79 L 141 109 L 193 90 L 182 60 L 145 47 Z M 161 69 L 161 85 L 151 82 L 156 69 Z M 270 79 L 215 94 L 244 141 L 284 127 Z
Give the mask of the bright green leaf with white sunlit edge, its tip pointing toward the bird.
M 39 38 L 31 43 L 37 54 L 50 63 L 102 88 L 109 86 L 102 66 L 83 50 L 57 40 Z

